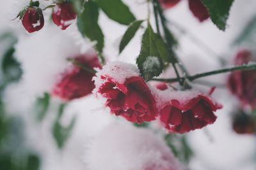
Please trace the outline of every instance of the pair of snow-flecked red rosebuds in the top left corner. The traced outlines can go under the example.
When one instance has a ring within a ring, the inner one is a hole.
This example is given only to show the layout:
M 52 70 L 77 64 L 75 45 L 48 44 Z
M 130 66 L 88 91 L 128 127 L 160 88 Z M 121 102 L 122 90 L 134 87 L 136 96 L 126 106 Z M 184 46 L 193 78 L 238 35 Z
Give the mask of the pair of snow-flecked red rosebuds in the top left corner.
M 22 20 L 22 25 L 29 33 L 39 31 L 44 27 L 43 10 L 39 7 L 38 1 L 31 1 L 28 6 L 20 11 L 18 17 Z M 54 6 L 52 21 L 61 29 L 67 29 L 74 19 L 76 19 L 76 12 L 73 10 L 71 3 L 64 1 Z

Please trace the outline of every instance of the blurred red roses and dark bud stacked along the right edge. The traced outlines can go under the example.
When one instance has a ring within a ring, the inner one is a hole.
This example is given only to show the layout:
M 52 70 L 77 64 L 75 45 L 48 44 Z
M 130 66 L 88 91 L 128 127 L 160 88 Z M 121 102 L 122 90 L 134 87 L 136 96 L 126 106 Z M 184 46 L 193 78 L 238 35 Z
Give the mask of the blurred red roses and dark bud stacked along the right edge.
M 235 64 L 240 66 L 255 62 L 253 53 L 241 50 L 237 53 Z M 256 71 L 236 71 L 228 76 L 228 89 L 239 99 L 241 106 L 234 116 L 233 129 L 239 134 L 254 134 L 256 132 L 255 116 L 246 113 L 246 110 L 256 110 Z

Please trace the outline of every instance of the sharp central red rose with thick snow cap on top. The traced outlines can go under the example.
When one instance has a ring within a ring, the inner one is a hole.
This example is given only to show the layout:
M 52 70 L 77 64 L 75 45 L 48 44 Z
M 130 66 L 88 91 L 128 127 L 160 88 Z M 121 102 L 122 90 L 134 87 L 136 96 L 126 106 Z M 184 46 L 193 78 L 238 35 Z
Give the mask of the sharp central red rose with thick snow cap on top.
M 156 119 L 156 101 L 136 66 L 109 62 L 96 75 L 95 92 L 106 99 L 111 113 L 136 123 Z

